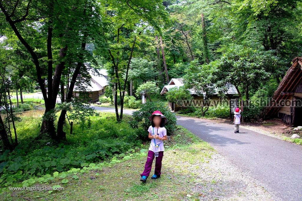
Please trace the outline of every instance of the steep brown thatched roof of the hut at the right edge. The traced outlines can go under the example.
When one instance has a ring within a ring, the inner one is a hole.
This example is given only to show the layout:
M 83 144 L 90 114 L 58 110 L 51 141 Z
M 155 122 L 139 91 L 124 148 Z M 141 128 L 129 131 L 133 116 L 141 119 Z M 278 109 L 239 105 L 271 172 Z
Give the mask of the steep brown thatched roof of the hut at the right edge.
M 285 100 L 288 99 L 289 96 L 292 96 L 291 92 L 293 92 L 296 89 L 297 85 L 300 83 L 301 80 L 302 80 L 302 58 L 296 57 L 293 59 L 293 65 L 291 66 L 291 68 L 288 69 L 285 76 L 281 80 L 278 89 L 275 91 L 272 97 L 273 101 L 271 102 L 270 107 L 265 108 L 261 116 L 264 118 L 268 118 L 275 115 L 281 107 L 280 106 L 277 107 L 272 104 L 274 104 L 274 102 L 278 104 L 280 100 Z

